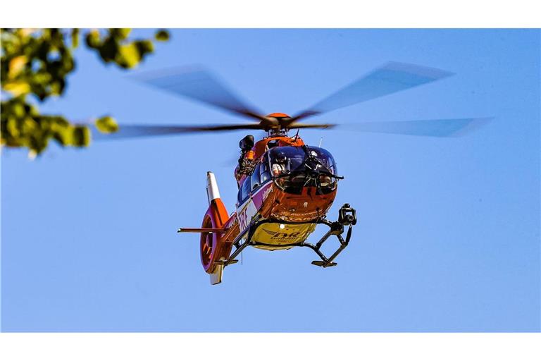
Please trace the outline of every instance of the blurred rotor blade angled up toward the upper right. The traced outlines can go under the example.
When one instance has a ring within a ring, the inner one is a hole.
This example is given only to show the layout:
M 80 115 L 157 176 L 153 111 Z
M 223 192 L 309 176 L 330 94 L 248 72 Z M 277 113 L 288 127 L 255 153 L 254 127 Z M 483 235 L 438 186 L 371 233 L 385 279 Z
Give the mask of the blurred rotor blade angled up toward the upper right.
M 447 78 L 449 75 L 453 75 L 453 73 L 409 63 L 390 62 L 331 94 L 321 102 L 311 106 L 310 109 L 292 117 L 292 121 L 340 109 L 344 106 L 366 102 L 387 94 Z

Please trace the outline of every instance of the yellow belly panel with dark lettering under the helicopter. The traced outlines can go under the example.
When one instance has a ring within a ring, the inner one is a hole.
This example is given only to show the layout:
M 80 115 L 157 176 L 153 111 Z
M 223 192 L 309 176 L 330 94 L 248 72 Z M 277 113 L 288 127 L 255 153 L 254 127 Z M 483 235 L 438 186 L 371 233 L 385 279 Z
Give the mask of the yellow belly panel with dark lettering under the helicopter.
M 295 245 L 306 240 L 308 236 L 316 228 L 316 224 L 278 224 L 278 223 L 263 223 L 261 224 L 252 240 L 259 243 L 255 247 L 263 249 L 280 249 L 289 248 L 290 245 Z

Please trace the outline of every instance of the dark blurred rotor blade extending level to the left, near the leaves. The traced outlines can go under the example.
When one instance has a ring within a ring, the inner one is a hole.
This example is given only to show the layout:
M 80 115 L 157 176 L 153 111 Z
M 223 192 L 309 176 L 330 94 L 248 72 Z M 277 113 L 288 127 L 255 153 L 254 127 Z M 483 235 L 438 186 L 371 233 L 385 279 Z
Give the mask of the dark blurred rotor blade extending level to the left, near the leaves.
M 261 129 L 259 124 L 237 124 L 232 126 L 138 126 L 120 124 L 115 133 L 101 133 L 92 128 L 92 137 L 95 140 L 115 140 L 132 137 L 149 137 L 155 135 L 173 135 L 201 132 L 216 132 L 241 129 Z

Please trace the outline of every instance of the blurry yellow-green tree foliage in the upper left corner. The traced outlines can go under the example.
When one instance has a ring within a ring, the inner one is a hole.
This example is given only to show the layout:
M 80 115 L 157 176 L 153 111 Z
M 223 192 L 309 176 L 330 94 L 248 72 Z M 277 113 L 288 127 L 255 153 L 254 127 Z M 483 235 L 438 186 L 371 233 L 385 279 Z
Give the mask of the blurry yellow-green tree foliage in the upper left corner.
M 130 29 L 1 29 L 0 142 L 7 147 L 25 147 L 30 157 L 39 156 L 49 141 L 61 146 L 85 147 L 91 141 L 89 126 L 70 123 L 61 114 L 42 114 L 35 102 L 61 96 L 68 75 L 75 69 L 73 51 L 82 41 L 99 54 L 102 63 L 133 68 L 154 52 L 154 40 L 170 38 L 167 30 L 156 30 L 148 39 L 129 39 Z M 4 94 L 6 96 L 4 97 Z M 92 125 L 94 126 L 94 125 Z M 110 116 L 95 123 L 102 133 L 118 131 Z

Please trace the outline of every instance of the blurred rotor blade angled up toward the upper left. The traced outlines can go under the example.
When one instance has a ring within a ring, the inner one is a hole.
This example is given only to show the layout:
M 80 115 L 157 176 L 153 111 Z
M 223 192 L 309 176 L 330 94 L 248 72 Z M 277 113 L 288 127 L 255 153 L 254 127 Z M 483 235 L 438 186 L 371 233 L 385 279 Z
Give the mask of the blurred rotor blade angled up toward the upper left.
M 167 90 L 173 94 L 225 109 L 234 114 L 240 114 L 259 121 L 265 119 L 259 115 L 259 111 L 242 102 L 228 87 L 223 85 L 211 73 L 202 69 L 176 68 L 143 73 L 131 78 L 161 90 Z

